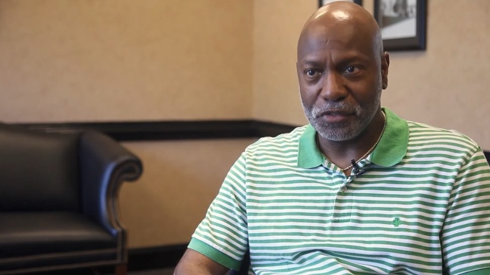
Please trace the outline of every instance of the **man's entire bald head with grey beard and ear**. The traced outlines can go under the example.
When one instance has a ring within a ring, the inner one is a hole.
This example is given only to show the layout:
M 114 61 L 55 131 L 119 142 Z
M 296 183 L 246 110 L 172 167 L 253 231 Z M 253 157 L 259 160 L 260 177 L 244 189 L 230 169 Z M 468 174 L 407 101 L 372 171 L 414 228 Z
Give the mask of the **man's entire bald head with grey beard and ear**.
M 381 42 L 375 19 L 351 2 L 328 4 L 304 24 L 296 63 L 299 93 L 304 114 L 324 140 L 351 141 L 381 131 L 381 91 L 390 63 Z

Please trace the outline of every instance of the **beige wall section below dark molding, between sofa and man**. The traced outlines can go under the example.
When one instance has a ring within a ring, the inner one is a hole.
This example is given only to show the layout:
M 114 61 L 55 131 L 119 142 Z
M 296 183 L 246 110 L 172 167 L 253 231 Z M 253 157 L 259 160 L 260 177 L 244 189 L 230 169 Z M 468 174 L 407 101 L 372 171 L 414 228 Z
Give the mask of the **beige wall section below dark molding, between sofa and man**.
M 228 169 L 253 139 L 127 142 L 144 173 L 120 192 L 129 246 L 187 243 Z

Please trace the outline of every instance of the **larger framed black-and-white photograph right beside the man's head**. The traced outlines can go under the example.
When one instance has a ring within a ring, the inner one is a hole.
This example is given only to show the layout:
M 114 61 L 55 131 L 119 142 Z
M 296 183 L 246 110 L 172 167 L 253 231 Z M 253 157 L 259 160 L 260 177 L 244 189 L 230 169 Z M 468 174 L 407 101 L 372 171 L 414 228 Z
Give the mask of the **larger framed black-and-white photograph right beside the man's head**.
M 374 16 L 385 50 L 424 50 L 425 0 L 375 0 Z

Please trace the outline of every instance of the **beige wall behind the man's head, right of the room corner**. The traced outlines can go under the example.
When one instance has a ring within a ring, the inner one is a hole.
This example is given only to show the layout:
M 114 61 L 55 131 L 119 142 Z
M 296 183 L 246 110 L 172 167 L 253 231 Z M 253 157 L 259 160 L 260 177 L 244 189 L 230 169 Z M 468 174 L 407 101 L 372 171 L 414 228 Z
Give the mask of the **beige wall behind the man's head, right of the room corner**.
M 255 3 L 254 117 L 305 123 L 295 46 L 318 1 Z M 372 12 L 373 0 L 363 5 Z M 427 49 L 391 53 L 382 104 L 406 119 L 459 130 L 490 150 L 490 1 L 430 0 L 427 14 Z

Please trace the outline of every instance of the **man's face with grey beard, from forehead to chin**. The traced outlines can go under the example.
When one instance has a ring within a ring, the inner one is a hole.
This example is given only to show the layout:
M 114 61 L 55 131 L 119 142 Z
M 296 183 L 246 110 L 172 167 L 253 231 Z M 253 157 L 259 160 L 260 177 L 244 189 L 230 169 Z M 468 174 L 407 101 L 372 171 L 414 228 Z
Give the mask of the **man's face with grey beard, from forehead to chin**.
M 322 137 L 348 141 L 370 125 L 386 86 L 380 57 L 373 38 L 352 25 L 313 24 L 303 35 L 297 63 L 301 102 Z

